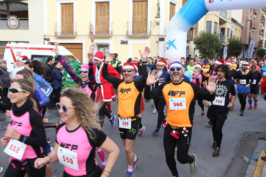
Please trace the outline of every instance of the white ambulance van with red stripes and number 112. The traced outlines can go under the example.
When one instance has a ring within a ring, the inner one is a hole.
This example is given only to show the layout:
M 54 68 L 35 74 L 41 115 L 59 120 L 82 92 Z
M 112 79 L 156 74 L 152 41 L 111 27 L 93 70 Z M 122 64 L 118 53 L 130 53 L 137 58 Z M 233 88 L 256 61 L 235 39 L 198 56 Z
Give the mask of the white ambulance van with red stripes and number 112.
M 39 58 L 45 63 L 49 56 L 53 56 L 57 60 L 57 55 L 53 52 L 54 42 L 48 42 L 48 45 L 27 44 L 23 42 L 8 42 L 5 48 L 4 60 L 7 60 L 7 71 L 13 71 L 13 65 L 20 56 L 27 56 L 30 59 Z M 82 64 L 69 50 L 58 45 L 58 50 L 67 63 L 74 59 L 77 63 Z

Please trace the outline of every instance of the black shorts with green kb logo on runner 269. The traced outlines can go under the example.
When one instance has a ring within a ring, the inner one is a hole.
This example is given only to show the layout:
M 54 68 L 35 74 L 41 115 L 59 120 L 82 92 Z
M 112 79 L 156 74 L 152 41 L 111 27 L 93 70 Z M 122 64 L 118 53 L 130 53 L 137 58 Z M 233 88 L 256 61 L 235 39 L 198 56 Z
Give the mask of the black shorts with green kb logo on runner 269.
M 131 122 L 131 129 L 119 128 L 120 137 L 122 139 L 135 140 L 140 129 L 141 117 Z M 119 127 L 119 120 L 118 120 Z

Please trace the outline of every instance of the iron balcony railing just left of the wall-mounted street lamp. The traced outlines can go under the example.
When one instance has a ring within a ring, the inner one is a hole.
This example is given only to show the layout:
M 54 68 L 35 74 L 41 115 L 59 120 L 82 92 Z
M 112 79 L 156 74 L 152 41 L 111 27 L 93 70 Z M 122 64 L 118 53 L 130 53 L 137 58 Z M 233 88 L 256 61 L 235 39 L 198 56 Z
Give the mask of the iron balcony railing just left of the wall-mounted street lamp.
M 145 22 L 145 21 L 140 21 L 140 22 L 127 22 L 126 27 L 127 35 L 150 35 L 151 30 L 150 30 L 151 22 Z

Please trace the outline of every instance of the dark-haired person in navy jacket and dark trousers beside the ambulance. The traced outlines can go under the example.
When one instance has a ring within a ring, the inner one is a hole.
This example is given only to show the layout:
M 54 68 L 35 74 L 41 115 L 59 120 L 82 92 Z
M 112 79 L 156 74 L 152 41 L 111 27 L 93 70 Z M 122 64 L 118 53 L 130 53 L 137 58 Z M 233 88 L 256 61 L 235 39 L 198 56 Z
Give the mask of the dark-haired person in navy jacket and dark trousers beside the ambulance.
M 60 99 L 60 92 L 62 90 L 62 78 L 63 78 L 63 73 L 61 72 L 61 63 L 60 62 L 54 62 L 53 64 L 53 68 L 52 68 L 52 88 L 53 88 L 53 95 L 54 95 L 54 98 L 53 98 L 53 106 L 54 108 L 55 107 L 55 104 L 56 103 L 59 103 L 59 99 Z M 52 95 L 51 94 L 51 95 Z

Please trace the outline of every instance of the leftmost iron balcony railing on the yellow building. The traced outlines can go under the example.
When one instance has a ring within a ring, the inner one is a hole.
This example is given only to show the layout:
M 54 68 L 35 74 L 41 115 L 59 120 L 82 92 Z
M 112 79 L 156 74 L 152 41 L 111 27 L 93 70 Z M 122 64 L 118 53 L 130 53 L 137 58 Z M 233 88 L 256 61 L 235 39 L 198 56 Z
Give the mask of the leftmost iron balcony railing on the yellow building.
M 55 23 L 54 35 L 56 36 L 76 36 L 77 35 L 77 23 Z

